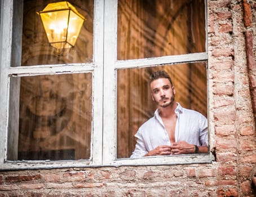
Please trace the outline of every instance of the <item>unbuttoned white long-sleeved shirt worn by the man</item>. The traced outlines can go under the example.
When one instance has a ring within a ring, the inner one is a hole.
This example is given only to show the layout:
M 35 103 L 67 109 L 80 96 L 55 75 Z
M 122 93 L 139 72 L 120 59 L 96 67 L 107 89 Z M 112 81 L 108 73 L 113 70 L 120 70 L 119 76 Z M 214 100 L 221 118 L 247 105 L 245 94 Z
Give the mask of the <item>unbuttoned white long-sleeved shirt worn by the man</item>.
M 178 102 L 177 104 L 175 142 L 186 141 L 188 144 L 208 146 L 207 119 L 197 111 L 182 108 Z M 140 126 L 135 137 L 137 142 L 131 158 L 142 157 L 160 145 L 171 145 L 158 109 L 155 111 L 154 117 Z

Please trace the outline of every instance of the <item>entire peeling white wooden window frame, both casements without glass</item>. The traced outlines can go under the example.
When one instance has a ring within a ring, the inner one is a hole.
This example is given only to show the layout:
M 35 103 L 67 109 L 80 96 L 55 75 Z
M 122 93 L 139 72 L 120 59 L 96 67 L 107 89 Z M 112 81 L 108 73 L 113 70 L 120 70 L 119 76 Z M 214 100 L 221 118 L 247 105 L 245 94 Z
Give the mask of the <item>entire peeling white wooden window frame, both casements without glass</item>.
M 0 27 L 0 170 L 120 165 L 211 163 L 209 154 L 151 156 L 117 159 L 116 90 L 117 69 L 207 61 L 208 52 L 149 59 L 117 60 L 118 0 L 94 0 L 94 58 L 91 64 L 37 65 L 11 67 L 12 3 L 1 1 Z M 205 1 L 206 2 L 206 1 Z M 206 6 L 207 7 L 207 6 Z M 207 31 L 206 31 L 207 32 Z M 7 39 L 6 39 L 7 38 Z M 207 38 L 207 36 L 206 36 Z M 207 45 L 206 45 L 207 46 Z M 206 47 L 207 50 L 207 47 Z M 104 66 L 103 66 L 104 65 Z M 92 145 L 89 160 L 7 161 L 7 131 L 10 77 L 42 74 L 92 73 Z M 100 84 L 102 84 L 100 86 Z M 209 128 L 210 133 L 210 128 Z M 211 145 L 211 138 L 209 138 Z

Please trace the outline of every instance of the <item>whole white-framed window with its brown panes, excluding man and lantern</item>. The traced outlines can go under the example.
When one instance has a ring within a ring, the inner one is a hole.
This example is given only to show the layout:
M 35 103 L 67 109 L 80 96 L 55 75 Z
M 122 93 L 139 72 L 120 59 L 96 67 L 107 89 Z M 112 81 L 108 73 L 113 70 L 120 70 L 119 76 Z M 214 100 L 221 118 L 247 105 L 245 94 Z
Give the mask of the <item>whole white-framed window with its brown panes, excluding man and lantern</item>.
M 53 2 L 1 1 L 1 168 L 210 162 L 129 158 L 156 109 L 152 71 L 173 75 L 177 100 L 207 116 L 205 2 L 70 0 L 85 21 L 60 49 L 37 14 Z

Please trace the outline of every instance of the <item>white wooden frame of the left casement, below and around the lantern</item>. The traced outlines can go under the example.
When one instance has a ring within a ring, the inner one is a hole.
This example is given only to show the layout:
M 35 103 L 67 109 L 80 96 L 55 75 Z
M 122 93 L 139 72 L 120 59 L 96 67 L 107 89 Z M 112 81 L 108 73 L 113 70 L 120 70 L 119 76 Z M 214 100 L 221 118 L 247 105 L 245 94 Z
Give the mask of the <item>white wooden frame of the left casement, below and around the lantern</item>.
M 104 2 L 94 0 L 94 41 L 93 59 L 90 64 L 56 64 L 11 67 L 12 50 L 12 17 L 14 15 L 14 0 L 1 1 L 1 32 L 0 32 L 0 169 L 34 169 L 34 168 L 61 168 L 85 167 L 87 165 L 100 165 L 102 161 L 102 120 L 103 120 L 103 14 Z M 8 38 L 8 39 L 6 39 Z M 10 101 L 10 78 L 25 77 L 43 74 L 75 74 L 92 73 L 92 134 L 91 156 L 88 160 L 33 160 L 10 161 L 7 160 L 7 135 Z M 95 150 L 96 149 L 96 150 Z M 100 154 L 98 154 L 100 151 Z

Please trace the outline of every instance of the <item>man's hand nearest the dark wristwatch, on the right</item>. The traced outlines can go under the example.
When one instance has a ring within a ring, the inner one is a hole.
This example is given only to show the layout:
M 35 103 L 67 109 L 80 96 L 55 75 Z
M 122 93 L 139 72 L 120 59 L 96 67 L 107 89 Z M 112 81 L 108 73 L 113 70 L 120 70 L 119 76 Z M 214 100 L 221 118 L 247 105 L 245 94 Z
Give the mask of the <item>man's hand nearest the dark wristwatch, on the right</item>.
M 186 141 L 174 142 L 171 145 L 171 154 L 193 154 L 195 153 L 195 145 L 188 144 Z

